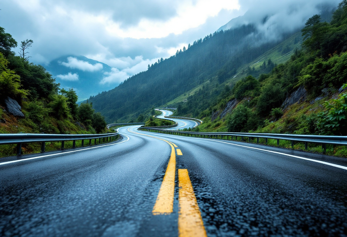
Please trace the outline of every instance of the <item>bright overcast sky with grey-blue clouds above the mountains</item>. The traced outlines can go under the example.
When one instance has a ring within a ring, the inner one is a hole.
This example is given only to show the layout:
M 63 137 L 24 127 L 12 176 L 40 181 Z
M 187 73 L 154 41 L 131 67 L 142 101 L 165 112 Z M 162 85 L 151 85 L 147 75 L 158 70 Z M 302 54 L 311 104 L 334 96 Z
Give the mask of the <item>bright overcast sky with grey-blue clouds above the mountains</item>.
M 1 0 L 0 26 L 18 42 L 34 41 L 29 51 L 34 63 L 47 65 L 63 55 L 83 55 L 112 67 L 101 83 L 118 84 L 247 10 L 248 15 L 235 22 L 252 23 L 268 14 L 268 25 L 259 29 L 273 35 L 279 28 L 302 27 L 319 13 L 317 6 L 329 2 L 337 6 L 339 0 Z M 86 70 L 102 68 L 75 58 L 65 63 Z M 76 75 L 66 76 L 78 80 Z

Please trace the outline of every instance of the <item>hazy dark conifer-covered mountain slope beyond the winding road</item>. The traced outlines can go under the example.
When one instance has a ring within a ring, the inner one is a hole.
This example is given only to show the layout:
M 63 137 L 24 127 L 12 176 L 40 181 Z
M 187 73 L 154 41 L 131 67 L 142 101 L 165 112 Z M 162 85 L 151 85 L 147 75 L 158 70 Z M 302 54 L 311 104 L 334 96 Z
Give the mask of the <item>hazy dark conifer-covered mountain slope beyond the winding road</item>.
M 124 81 L 115 89 L 90 98 L 96 111 L 108 122 L 136 119 L 148 108 L 169 102 L 198 85 L 218 77 L 218 84 L 279 42 L 260 44 L 252 25 L 215 32 L 197 40 L 169 59 L 158 60 L 145 72 Z M 283 36 L 283 40 L 288 36 Z

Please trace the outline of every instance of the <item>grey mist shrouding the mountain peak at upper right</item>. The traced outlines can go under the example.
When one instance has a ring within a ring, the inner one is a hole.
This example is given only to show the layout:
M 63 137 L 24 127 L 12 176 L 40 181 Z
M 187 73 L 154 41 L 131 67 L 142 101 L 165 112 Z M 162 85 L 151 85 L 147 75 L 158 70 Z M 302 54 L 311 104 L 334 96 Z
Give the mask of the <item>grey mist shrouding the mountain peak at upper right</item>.
M 306 20 L 315 14 L 321 15 L 322 21 L 329 22 L 339 2 L 340 0 L 250 0 L 246 4 L 249 9 L 243 16 L 231 19 L 217 31 L 252 25 L 260 43 L 281 40 L 284 35 L 302 29 Z

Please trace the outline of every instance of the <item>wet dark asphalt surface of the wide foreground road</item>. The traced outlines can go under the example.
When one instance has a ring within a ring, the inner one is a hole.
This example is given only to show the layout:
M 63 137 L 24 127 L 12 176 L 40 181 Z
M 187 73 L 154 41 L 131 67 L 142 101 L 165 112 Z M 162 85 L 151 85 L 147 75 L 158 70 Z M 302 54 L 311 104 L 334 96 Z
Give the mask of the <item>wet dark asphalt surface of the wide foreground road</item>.
M 151 212 L 171 148 L 142 134 L 182 151 L 176 170 L 188 169 L 208 236 L 346 236 L 347 170 L 284 154 L 345 159 L 119 132 L 112 146 L 0 165 L 0 236 L 177 236 L 177 174 L 173 212 Z

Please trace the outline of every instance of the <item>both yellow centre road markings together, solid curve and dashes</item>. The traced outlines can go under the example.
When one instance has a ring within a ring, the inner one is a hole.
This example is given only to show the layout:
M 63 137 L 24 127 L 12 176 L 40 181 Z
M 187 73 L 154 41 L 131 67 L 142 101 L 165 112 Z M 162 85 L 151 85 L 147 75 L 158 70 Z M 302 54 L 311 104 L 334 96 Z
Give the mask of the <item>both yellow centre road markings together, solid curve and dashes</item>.
M 131 132 L 129 129 L 128 131 Z M 156 138 L 137 132 L 132 133 Z M 153 215 L 167 215 L 171 214 L 174 208 L 176 152 L 177 155 L 183 154 L 181 150 L 178 149 L 176 144 L 161 138 L 156 139 L 165 141 L 170 145 L 171 155 L 152 213 Z M 175 148 L 177 148 L 176 152 Z M 180 237 L 207 237 L 204 223 L 201 218 L 200 209 L 196 201 L 193 186 L 189 178 L 187 169 L 178 169 L 178 187 L 178 235 Z

